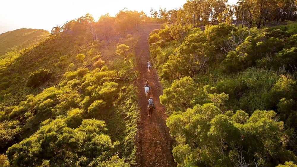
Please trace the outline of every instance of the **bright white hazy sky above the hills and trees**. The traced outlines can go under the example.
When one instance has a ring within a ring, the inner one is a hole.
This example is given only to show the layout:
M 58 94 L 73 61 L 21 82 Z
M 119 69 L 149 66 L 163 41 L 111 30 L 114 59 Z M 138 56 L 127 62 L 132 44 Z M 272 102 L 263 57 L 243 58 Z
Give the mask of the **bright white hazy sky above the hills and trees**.
M 229 0 L 235 4 L 237 0 Z M 115 16 L 120 10 L 143 10 L 150 15 L 151 7 L 178 9 L 186 0 L 4 0 L 0 2 L 0 34 L 20 28 L 51 31 L 67 21 L 91 14 L 95 21 L 107 13 Z

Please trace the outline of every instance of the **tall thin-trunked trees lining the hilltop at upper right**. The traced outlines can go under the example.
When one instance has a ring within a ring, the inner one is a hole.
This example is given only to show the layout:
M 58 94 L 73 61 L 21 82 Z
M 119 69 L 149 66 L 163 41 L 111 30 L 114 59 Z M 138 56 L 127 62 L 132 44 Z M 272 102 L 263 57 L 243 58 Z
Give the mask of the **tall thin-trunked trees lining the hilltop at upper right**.
M 227 4 L 228 0 L 187 0 L 182 8 L 168 10 L 151 9 L 151 18 L 169 23 L 193 24 L 194 27 L 236 20 L 248 27 L 266 26 L 272 21 L 295 21 L 297 3 L 295 0 L 239 0 Z

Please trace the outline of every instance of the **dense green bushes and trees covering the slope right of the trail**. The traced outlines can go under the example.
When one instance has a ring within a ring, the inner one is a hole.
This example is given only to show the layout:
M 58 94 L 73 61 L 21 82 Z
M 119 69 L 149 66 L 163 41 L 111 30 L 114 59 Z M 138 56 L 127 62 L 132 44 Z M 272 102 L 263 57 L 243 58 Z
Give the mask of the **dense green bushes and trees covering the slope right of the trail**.
M 178 166 L 297 162 L 296 32 L 296 24 L 257 29 L 228 23 L 205 31 L 163 25 L 151 32 Z

